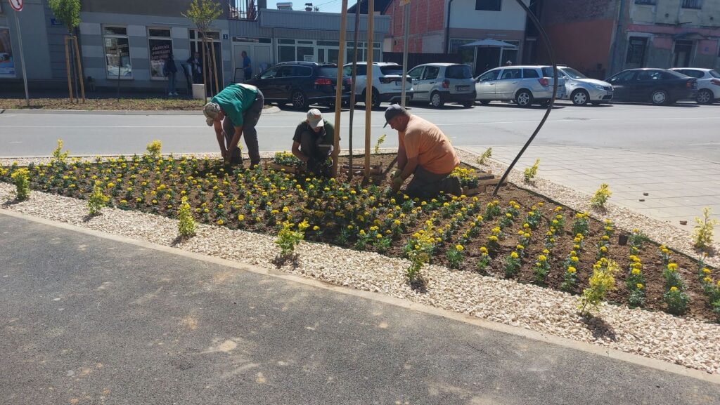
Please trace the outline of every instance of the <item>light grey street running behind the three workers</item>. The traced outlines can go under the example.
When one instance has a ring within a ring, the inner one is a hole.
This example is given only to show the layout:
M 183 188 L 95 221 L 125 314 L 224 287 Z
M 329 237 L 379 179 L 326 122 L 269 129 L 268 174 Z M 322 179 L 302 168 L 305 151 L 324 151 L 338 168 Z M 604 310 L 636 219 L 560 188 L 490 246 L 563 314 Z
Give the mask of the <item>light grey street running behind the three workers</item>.
M 385 106 L 385 104 L 383 104 Z M 384 147 L 397 146 L 395 132 L 382 128 L 384 109 L 372 113 L 372 146 L 387 134 Z M 494 102 L 471 109 L 413 106 L 413 113 L 438 124 L 457 146 L 520 145 L 531 135 L 544 109 L 521 109 Z M 326 118 L 334 113 L 323 109 Z M 342 114 L 341 147 L 348 148 L 349 112 Z M 263 151 L 289 150 L 303 112 L 265 114 L 258 123 Z M 364 112 L 354 117 L 356 148 L 364 147 Z M 720 162 L 720 105 L 675 106 L 613 104 L 577 107 L 560 102 L 536 138 L 536 145 L 610 147 L 670 153 Z M 148 142 L 163 142 L 166 153 L 217 152 L 212 129 L 202 115 L 0 114 L 0 156 L 49 155 L 62 138 L 76 155 L 143 153 Z

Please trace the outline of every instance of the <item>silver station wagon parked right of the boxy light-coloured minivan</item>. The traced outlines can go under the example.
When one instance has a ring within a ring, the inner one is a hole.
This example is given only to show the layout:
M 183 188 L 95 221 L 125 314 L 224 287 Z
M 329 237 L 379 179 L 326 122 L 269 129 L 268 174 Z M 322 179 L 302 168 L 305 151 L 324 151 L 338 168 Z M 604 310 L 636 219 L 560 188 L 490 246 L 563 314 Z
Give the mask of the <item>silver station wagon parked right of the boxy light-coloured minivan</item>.
M 533 103 L 546 105 L 552 99 L 552 66 L 503 66 L 487 70 L 475 79 L 477 101 L 512 101 L 528 107 Z M 558 72 L 556 99 L 565 96 L 565 79 Z

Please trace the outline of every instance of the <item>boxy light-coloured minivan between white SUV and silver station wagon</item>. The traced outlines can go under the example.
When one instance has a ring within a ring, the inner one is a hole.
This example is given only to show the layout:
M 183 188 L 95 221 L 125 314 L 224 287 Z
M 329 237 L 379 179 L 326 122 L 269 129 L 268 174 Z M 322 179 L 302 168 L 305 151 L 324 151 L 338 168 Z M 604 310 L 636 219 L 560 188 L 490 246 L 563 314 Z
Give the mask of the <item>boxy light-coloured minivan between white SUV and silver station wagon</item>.
M 426 63 L 408 72 L 413 79 L 413 102 L 430 103 L 439 108 L 445 103 L 475 104 L 475 81 L 468 65 Z

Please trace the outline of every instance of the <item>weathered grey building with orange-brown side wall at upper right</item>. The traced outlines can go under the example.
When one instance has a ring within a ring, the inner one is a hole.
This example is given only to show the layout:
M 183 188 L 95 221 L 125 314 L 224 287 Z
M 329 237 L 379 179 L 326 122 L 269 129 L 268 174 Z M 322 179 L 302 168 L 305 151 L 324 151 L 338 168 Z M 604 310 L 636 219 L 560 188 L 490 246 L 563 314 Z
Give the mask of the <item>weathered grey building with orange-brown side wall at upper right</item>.
M 557 61 L 589 76 L 720 68 L 720 0 L 542 0 L 541 9 Z

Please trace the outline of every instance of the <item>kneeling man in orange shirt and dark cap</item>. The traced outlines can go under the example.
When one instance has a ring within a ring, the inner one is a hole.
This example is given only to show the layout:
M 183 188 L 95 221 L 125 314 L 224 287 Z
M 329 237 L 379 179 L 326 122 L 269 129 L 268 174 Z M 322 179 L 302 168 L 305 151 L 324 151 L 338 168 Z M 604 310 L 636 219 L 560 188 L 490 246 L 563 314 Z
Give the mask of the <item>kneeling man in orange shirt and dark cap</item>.
M 405 192 L 415 198 L 431 199 L 443 191 L 462 194 L 460 181 L 450 173 L 460 164 L 450 140 L 434 124 L 410 114 L 397 104 L 385 110 L 385 127 L 397 131 L 397 168 L 392 176 L 392 191 L 397 192 L 406 178 L 413 175 Z

